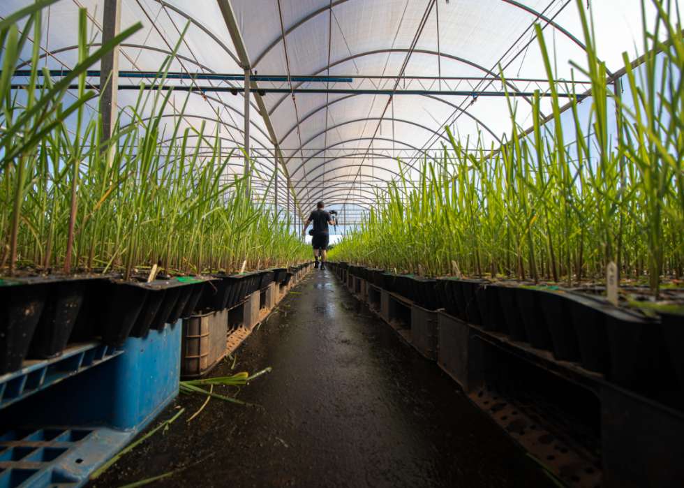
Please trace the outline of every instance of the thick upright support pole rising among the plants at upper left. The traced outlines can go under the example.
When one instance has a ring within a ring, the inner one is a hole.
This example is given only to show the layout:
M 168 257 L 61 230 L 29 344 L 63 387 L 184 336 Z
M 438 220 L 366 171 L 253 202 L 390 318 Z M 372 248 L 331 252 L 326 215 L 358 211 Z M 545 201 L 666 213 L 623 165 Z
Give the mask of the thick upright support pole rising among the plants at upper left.
M 121 0 L 105 0 L 102 20 L 102 43 L 108 43 L 121 32 Z M 111 77 L 110 77 L 111 75 Z M 106 84 L 106 87 L 105 87 Z M 102 117 L 102 141 L 112 138 L 117 121 L 117 98 L 119 94 L 119 47 L 107 53 L 100 61 L 100 86 L 105 87 L 100 96 Z M 115 144 L 103 147 L 107 162 L 112 165 Z

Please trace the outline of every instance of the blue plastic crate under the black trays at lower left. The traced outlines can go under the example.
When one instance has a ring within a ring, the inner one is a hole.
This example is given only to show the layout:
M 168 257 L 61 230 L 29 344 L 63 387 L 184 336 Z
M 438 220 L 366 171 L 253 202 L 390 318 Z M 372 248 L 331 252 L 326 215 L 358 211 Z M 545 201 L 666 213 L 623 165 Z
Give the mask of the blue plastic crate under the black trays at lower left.
M 50 368 L 56 360 L 36 362 L 6 375 L 8 381 L 3 384 L 22 383 L 22 390 L 6 397 L 15 399 L 15 405 L 3 415 L 12 417 L 13 425 L 28 427 L 0 436 L 0 488 L 84 485 L 90 473 L 124 448 L 177 396 L 180 344 L 179 321 L 140 339 L 129 337 L 106 361 L 108 351 L 96 345 L 59 358 L 70 366 L 59 367 L 54 374 Z M 101 365 L 92 367 L 97 364 Z M 71 369 L 70 374 L 64 369 Z M 43 378 L 35 391 L 27 388 L 31 374 Z M 24 401 L 17 405 L 19 399 Z

